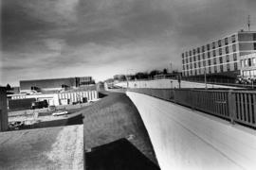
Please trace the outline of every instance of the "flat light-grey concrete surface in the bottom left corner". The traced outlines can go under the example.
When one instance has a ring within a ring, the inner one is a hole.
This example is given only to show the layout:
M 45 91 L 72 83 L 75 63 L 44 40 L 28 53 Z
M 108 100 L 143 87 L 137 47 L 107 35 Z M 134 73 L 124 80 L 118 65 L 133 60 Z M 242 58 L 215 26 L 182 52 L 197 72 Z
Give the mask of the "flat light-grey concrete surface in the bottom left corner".
M 83 126 L 0 133 L 0 169 L 83 169 Z

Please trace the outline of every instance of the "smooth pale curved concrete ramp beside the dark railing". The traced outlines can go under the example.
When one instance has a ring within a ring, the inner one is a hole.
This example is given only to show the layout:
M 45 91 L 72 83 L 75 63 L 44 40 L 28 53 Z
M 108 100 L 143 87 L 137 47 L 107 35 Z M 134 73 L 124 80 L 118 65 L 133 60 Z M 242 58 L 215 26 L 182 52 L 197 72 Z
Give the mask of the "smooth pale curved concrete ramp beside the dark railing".
M 141 93 L 137 106 L 162 170 L 255 169 L 256 132 Z

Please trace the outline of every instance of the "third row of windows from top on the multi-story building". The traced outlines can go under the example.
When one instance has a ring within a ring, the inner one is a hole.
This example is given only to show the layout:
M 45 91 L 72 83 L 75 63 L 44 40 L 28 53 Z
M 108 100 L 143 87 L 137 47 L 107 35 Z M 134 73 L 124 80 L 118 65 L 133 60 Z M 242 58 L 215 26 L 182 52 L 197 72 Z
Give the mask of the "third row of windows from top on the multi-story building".
M 233 53 L 232 57 L 233 57 L 233 61 L 237 60 L 237 54 L 236 53 Z M 223 59 L 225 59 L 225 58 L 226 58 L 226 61 L 229 62 L 229 55 L 226 55 L 226 57 L 219 57 L 218 58 L 219 63 L 223 63 Z M 208 60 L 208 62 L 210 64 L 210 59 L 202 59 L 201 60 L 200 57 L 198 57 L 197 60 L 196 59 L 193 59 L 193 60 L 194 61 L 192 61 L 192 59 L 190 59 L 190 62 L 188 62 L 187 59 L 186 59 L 186 63 L 182 63 L 183 68 L 184 68 L 185 65 L 192 65 L 192 64 L 196 64 L 196 63 L 198 63 L 198 65 L 200 65 L 200 61 L 203 61 L 203 63 L 204 63 L 203 65 L 205 66 L 206 60 Z M 213 60 L 214 64 L 217 62 L 217 58 L 213 58 L 212 60 Z

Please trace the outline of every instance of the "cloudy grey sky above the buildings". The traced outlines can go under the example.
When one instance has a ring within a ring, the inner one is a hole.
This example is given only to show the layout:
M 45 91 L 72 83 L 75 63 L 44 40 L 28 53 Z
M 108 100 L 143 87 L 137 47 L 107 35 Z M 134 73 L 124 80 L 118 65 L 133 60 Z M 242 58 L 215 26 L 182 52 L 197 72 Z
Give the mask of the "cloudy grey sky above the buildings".
M 247 30 L 247 15 L 256 30 L 255 0 L 0 0 L 0 5 L 0 85 L 181 70 L 183 51 Z

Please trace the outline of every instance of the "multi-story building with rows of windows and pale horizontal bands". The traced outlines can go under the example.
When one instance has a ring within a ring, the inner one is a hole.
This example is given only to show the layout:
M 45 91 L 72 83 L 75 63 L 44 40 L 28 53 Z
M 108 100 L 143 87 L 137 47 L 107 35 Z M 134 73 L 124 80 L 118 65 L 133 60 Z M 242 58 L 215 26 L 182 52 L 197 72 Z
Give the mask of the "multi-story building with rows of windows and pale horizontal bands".
M 256 32 L 241 30 L 182 53 L 182 75 L 234 79 L 243 75 L 240 59 L 251 53 L 256 53 Z

